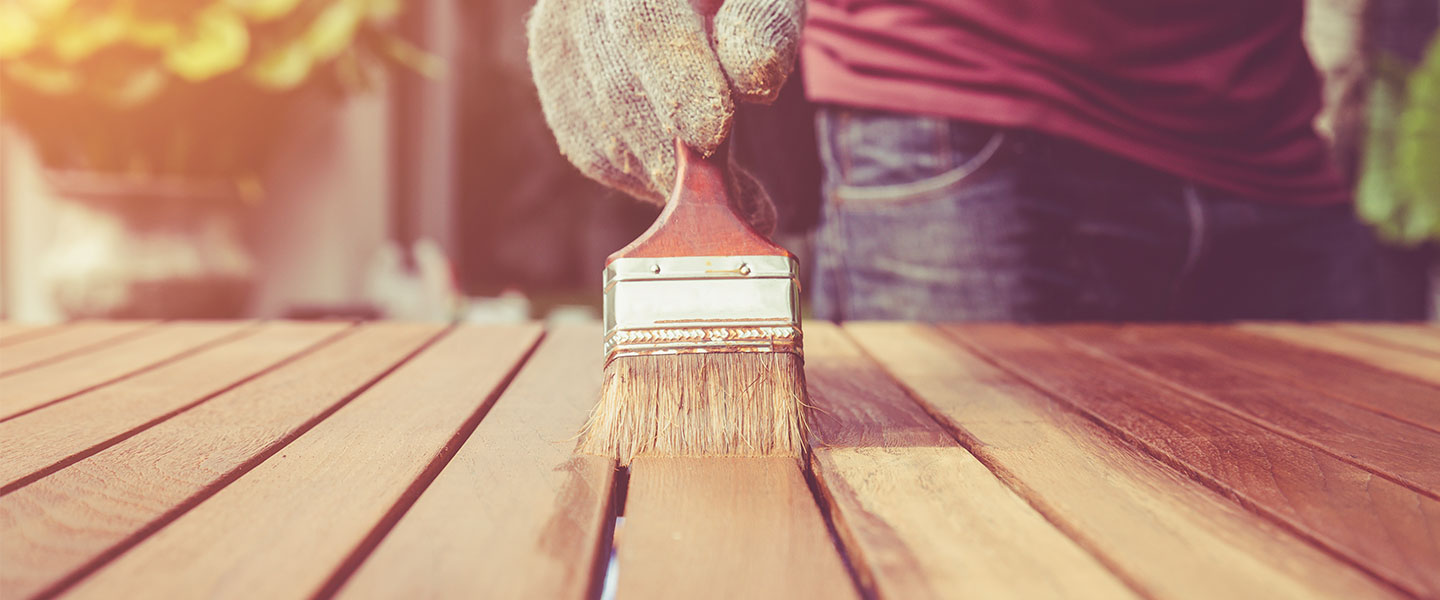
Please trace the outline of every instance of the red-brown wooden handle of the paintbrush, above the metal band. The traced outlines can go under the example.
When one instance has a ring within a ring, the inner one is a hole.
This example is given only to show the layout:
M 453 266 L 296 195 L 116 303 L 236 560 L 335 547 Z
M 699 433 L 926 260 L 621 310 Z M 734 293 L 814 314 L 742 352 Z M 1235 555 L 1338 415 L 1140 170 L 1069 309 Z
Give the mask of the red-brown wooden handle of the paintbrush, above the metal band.
M 726 188 L 729 147 L 726 141 L 704 158 L 677 140 L 675 190 L 665 210 L 639 239 L 611 255 L 606 265 L 622 258 L 791 256 L 736 210 Z

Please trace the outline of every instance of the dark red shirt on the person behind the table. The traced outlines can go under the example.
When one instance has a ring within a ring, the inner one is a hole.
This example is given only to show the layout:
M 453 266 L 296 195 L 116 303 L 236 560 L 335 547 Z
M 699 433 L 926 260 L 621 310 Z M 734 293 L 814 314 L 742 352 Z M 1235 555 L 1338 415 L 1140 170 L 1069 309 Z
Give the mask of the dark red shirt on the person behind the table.
M 811 0 L 812 101 L 1038 129 L 1256 200 L 1349 199 L 1302 0 Z

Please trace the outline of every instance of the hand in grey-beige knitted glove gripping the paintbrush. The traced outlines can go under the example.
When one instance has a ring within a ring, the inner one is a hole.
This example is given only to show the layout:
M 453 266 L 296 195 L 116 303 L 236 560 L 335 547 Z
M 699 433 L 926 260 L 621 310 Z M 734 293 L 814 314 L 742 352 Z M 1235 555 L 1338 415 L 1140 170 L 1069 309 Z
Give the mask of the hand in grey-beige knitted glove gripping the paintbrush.
M 708 155 L 730 132 L 734 99 L 773 101 L 795 63 L 804 10 L 804 0 L 726 0 L 707 33 L 690 0 L 539 0 L 530 69 L 560 153 L 596 181 L 664 203 L 674 138 Z M 742 213 L 770 233 L 769 197 L 749 174 L 730 173 Z

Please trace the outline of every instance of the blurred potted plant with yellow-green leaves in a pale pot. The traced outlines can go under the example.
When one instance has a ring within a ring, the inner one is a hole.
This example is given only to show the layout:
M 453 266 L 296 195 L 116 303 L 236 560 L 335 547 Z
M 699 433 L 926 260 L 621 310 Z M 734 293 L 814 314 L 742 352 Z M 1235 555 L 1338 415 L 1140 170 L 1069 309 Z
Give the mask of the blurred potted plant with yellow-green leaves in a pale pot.
M 242 216 L 287 115 L 420 69 L 399 0 L 0 1 L 0 118 L 56 196 L 43 272 L 72 317 L 233 317 Z

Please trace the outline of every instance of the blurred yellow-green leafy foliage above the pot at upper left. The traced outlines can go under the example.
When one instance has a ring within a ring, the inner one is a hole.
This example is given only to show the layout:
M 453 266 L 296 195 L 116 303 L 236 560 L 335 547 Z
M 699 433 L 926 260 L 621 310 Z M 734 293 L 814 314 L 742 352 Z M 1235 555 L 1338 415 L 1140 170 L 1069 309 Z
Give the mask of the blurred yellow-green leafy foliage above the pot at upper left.
M 298 102 L 363 88 L 400 0 L 0 0 L 0 118 L 55 168 L 253 176 Z

